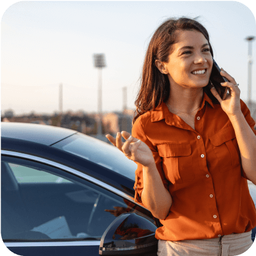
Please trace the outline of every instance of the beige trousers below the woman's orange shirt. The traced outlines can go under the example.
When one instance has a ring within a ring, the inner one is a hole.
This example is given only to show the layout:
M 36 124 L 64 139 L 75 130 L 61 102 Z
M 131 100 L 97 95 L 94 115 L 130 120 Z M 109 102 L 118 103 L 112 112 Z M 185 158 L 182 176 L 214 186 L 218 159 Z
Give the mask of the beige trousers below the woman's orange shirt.
M 252 231 L 212 239 L 158 241 L 158 256 L 235 256 L 253 244 Z

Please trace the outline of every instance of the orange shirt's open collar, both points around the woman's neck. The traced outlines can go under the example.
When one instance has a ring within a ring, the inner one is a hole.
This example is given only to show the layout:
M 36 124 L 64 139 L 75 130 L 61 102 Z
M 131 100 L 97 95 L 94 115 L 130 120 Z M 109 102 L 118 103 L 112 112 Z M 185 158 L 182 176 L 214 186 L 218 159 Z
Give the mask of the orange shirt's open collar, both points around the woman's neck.
M 212 108 L 215 108 L 213 102 L 211 101 L 207 93 L 203 92 L 203 103 L 199 110 L 203 108 L 203 106 L 205 105 L 205 101 L 207 101 Z M 164 103 L 163 101 L 157 108 L 155 108 L 155 110 L 151 111 L 151 122 L 160 121 L 162 119 L 165 119 L 166 123 L 169 124 L 171 124 L 173 121 L 173 115 L 170 114 L 170 111 L 166 106 L 166 103 Z

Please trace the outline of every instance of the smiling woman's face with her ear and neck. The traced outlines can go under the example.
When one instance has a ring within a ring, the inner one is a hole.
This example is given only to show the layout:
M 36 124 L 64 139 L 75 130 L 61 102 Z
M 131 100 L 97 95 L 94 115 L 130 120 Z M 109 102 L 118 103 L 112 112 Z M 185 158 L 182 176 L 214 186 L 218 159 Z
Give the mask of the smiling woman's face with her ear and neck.
M 207 39 L 202 33 L 182 30 L 176 34 L 176 43 L 171 48 L 168 62 L 156 59 L 155 64 L 162 74 L 168 75 L 171 85 L 171 96 L 166 101 L 168 108 L 176 114 L 189 113 L 194 117 L 194 111 L 200 107 L 202 100 L 202 88 L 209 83 L 213 59 Z M 192 89 L 193 98 L 190 95 Z M 190 96 L 190 101 L 181 104 L 182 95 Z

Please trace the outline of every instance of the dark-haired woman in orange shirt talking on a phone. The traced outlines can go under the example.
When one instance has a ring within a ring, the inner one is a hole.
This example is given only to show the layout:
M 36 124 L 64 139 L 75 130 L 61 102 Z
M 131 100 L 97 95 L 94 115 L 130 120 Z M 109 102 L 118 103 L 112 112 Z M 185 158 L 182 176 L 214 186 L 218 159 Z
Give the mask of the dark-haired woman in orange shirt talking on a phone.
M 256 210 L 255 121 L 238 84 L 210 82 L 213 51 L 195 19 L 168 19 L 151 38 L 132 135 L 106 135 L 137 163 L 135 200 L 162 227 L 158 255 L 239 255 L 251 245 Z M 226 95 L 225 88 L 229 94 Z

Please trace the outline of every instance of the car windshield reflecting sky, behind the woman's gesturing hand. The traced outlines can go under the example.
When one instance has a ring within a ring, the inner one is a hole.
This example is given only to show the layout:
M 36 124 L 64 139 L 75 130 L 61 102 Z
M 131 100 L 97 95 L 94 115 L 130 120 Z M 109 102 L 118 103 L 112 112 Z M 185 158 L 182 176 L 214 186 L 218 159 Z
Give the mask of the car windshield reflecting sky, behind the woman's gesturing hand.
M 64 140 L 52 145 L 52 147 L 81 156 L 94 163 L 105 166 L 119 174 L 135 181 L 137 164 L 129 160 L 113 145 L 77 132 Z

